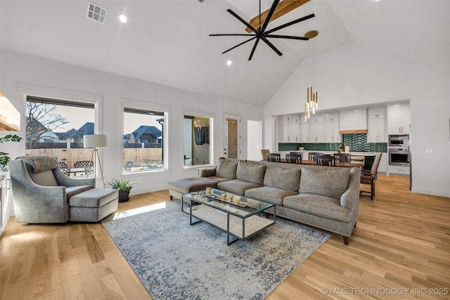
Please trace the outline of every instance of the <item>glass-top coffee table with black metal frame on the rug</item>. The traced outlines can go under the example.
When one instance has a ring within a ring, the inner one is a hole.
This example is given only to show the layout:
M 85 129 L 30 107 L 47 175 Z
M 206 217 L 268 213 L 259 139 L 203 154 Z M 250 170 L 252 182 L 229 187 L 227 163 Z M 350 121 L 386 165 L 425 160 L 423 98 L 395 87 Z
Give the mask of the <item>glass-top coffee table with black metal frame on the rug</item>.
M 225 199 L 222 198 L 224 194 Z M 234 200 L 240 197 L 240 203 Z M 226 244 L 246 240 L 275 223 L 275 204 L 223 192 L 215 188 L 183 195 L 181 211 L 191 225 L 205 222 L 226 232 Z M 193 219 L 197 219 L 196 221 Z M 233 240 L 230 237 L 234 237 Z

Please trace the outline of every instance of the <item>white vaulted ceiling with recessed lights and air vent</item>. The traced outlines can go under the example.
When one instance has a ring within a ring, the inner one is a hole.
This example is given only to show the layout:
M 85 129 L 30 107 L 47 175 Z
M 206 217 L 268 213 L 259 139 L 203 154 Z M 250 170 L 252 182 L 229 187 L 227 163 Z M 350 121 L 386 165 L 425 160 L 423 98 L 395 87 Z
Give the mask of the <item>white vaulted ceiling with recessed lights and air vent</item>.
M 221 54 L 247 38 L 209 34 L 245 33 L 226 10 L 249 22 L 259 13 L 257 0 L 94 3 L 108 10 L 104 24 L 86 18 L 88 1 L 1 0 L 1 47 L 254 105 L 264 105 L 306 56 L 306 42 L 284 39 L 271 40 L 283 56 L 262 43 L 248 61 L 252 42 Z M 271 4 L 262 1 L 262 11 Z M 449 12 L 450 1 L 311 0 L 268 29 L 314 13 L 278 33 L 318 30 L 316 53 L 358 43 L 412 64 L 429 60 L 449 75 Z M 119 21 L 122 13 L 128 22 Z

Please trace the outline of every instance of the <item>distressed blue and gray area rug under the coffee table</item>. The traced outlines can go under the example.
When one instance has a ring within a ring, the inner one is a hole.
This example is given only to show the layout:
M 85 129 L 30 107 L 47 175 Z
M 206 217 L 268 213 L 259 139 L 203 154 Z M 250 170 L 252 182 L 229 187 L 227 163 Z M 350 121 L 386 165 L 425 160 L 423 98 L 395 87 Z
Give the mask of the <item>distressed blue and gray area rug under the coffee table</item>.
M 250 240 L 189 225 L 181 202 L 103 221 L 153 299 L 264 299 L 330 235 L 277 218 Z

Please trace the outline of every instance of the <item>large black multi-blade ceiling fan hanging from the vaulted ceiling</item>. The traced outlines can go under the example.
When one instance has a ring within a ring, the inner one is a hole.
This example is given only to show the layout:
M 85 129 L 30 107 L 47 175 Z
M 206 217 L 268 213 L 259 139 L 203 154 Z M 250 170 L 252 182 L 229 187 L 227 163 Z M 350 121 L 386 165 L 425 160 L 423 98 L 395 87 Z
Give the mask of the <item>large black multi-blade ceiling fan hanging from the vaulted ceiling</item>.
M 280 25 L 278 27 L 275 27 L 274 29 L 271 30 L 267 30 L 266 31 L 266 27 L 267 25 L 269 25 L 269 22 L 272 18 L 272 15 L 274 15 L 274 11 L 276 9 L 276 6 L 278 6 L 278 3 L 280 2 L 280 0 L 274 0 L 274 3 L 272 4 L 269 13 L 267 14 L 266 20 L 264 20 L 264 24 L 261 26 L 261 0 L 259 0 L 259 28 L 255 29 L 255 27 L 253 27 L 252 25 L 250 25 L 247 21 L 245 21 L 243 18 L 240 18 L 240 16 L 238 14 L 236 14 L 235 12 L 231 11 L 231 9 L 227 9 L 226 11 L 228 11 L 229 13 L 231 13 L 231 15 L 233 15 L 236 19 L 240 20 L 240 22 L 243 22 L 248 28 L 250 28 L 250 30 L 252 30 L 252 33 L 250 34 L 210 34 L 210 37 L 224 37 L 224 36 L 242 36 L 242 37 L 251 37 L 250 39 L 243 41 L 240 44 L 237 44 L 236 46 L 233 46 L 231 48 L 229 48 L 228 50 L 222 52 L 222 54 L 227 53 L 228 51 L 233 50 L 234 48 L 237 48 L 238 46 L 241 46 L 245 43 L 248 43 L 249 41 L 252 41 L 254 39 L 256 39 L 255 44 L 253 45 L 252 48 L 252 52 L 250 52 L 250 57 L 248 58 L 248 60 L 252 60 L 253 57 L 253 53 L 255 53 L 255 49 L 259 43 L 259 40 L 261 39 L 262 41 L 264 41 L 264 43 L 267 44 L 267 46 L 269 46 L 272 50 L 274 50 L 278 56 L 282 56 L 283 53 L 281 53 L 276 46 L 274 46 L 274 44 L 272 44 L 268 38 L 274 38 L 274 39 L 300 39 L 303 41 L 307 41 L 309 39 L 309 37 L 293 37 L 290 35 L 280 35 L 280 34 L 272 34 L 272 32 L 276 32 L 278 30 L 281 30 L 285 27 L 288 27 L 290 25 L 294 25 L 297 24 L 298 22 L 302 22 L 304 20 L 308 20 L 310 18 L 314 18 L 314 13 L 311 13 L 311 15 L 307 15 L 303 18 L 299 18 L 297 20 L 293 20 L 290 22 L 287 22 L 283 25 Z

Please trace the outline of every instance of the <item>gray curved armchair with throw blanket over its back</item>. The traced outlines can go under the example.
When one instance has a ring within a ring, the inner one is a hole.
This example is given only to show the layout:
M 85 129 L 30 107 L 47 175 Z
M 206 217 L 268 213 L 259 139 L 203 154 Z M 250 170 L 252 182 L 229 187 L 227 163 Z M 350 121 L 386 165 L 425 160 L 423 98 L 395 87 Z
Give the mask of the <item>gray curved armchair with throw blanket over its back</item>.
M 18 157 L 9 162 L 9 170 L 19 223 L 65 223 L 70 197 L 94 188 L 94 178 L 65 176 L 56 157 Z

